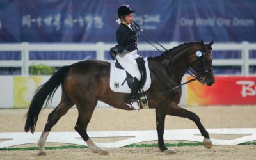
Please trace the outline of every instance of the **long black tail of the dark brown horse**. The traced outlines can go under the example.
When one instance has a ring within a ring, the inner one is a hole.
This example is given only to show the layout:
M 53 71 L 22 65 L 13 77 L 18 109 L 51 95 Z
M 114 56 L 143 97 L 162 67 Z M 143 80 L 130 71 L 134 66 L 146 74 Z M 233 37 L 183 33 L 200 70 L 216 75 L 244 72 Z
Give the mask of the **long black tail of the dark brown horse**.
M 28 113 L 26 114 L 27 119 L 24 128 L 26 132 L 28 132 L 30 129 L 30 131 L 34 133 L 38 115 L 42 109 L 42 106 L 44 105 L 44 101 L 47 99 L 47 106 L 47 103 L 52 99 L 57 88 L 60 86 L 61 82 L 67 75 L 69 68 L 69 66 L 61 67 L 46 83 L 44 83 L 36 90 L 29 106 Z

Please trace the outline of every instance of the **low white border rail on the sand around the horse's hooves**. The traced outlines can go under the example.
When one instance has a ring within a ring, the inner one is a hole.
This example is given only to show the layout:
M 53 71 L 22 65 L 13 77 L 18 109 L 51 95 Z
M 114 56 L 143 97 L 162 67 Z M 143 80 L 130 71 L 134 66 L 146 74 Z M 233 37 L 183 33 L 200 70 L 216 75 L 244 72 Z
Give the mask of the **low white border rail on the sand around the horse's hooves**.
M 234 129 L 207 129 L 211 134 L 242 134 L 241 137 L 233 140 L 218 140 L 212 138 L 213 145 L 238 145 L 248 141 L 256 140 L 256 128 L 234 128 Z M 180 140 L 180 141 L 196 141 L 202 142 L 203 137 L 199 136 L 198 129 L 173 129 L 164 131 L 164 140 Z M 246 135 L 244 135 L 246 134 Z M 249 135 L 248 135 L 249 134 Z M 0 148 L 11 147 L 15 145 L 24 145 L 29 143 L 37 143 L 41 133 L 17 133 L 6 132 L 0 133 Z M 157 131 L 94 131 L 88 132 L 91 138 L 127 138 L 116 142 L 95 143 L 102 148 L 117 148 L 141 143 L 146 141 L 157 141 Z M 5 141 L 3 141 L 5 140 Z M 47 143 L 68 143 L 74 145 L 86 145 L 77 132 L 50 132 Z

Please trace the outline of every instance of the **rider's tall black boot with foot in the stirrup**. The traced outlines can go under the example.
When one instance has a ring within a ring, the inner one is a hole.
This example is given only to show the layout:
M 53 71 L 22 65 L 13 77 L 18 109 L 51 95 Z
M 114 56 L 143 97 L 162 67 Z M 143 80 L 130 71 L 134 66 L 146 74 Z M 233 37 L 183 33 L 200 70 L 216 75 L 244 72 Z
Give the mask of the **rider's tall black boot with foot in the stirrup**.
M 140 86 L 140 81 L 136 77 L 134 77 L 131 85 L 130 106 L 136 110 L 140 109 L 140 105 L 138 104 L 138 100 L 137 100 L 139 86 Z

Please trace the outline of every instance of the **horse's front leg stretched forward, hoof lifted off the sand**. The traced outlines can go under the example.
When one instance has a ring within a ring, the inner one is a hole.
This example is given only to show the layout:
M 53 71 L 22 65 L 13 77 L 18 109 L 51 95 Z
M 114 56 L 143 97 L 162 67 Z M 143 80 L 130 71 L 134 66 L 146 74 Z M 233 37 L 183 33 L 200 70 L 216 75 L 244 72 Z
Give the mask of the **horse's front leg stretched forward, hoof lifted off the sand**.
M 193 113 L 184 108 L 181 108 L 177 104 L 173 104 L 172 106 L 164 108 L 164 111 L 166 111 L 166 115 L 188 118 L 189 120 L 192 120 L 193 122 L 195 122 L 200 133 L 202 134 L 202 136 L 204 136 L 204 141 L 203 141 L 204 146 L 208 149 L 212 148 L 212 141 L 209 137 L 209 134 L 204 128 L 204 126 L 202 125 L 202 123 L 200 122 L 200 118 L 196 115 L 196 113 Z

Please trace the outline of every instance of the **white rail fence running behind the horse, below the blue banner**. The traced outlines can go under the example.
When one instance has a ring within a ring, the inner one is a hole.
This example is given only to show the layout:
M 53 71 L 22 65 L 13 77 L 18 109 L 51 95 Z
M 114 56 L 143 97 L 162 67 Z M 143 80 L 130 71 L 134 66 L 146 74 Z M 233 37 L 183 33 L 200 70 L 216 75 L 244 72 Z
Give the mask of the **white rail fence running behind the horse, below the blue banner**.
M 161 43 L 167 49 L 173 48 L 182 42 L 163 42 Z M 79 43 L 79 44 L 35 44 L 23 42 L 20 44 L 0 44 L 1 51 L 20 51 L 21 60 L 0 60 L 0 67 L 21 67 L 21 74 L 29 74 L 29 66 L 39 65 L 44 63 L 52 67 L 61 67 L 63 65 L 70 65 L 81 60 L 29 60 L 29 52 L 31 51 L 95 51 L 97 60 L 106 60 L 104 55 L 113 47 L 115 43 L 97 42 L 93 44 Z M 140 51 L 156 51 L 150 44 L 139 44 Z M 241 43 L 215 43 L 213 45 L 215 51 L 241 51 L 241 58 L 234 59 L 214 59 L 214 66 L 239 66 L 241 67 L 241 74 L 248 76 L 250 74 L 249 68 L 255 65 L 256 58 L 250 58 L 250 51 L 256 50 L 256 43 L 241 42 Z M 160 53 L 159 53 L 160 54 Z M 109 60 L 107 60 L 109 61 Z

